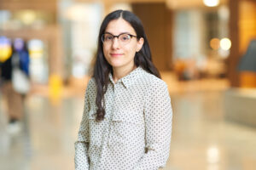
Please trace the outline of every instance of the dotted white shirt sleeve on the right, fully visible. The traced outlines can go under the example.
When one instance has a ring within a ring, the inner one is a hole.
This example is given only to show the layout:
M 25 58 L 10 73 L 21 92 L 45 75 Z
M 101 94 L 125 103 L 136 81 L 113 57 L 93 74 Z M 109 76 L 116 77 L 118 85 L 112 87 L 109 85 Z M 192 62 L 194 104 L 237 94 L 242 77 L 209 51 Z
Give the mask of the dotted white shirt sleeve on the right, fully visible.
M 166 166 L 172 136 L 172 105 L 165 82 L 152 85 L 144 106 L 146 153 L 134 170 Z

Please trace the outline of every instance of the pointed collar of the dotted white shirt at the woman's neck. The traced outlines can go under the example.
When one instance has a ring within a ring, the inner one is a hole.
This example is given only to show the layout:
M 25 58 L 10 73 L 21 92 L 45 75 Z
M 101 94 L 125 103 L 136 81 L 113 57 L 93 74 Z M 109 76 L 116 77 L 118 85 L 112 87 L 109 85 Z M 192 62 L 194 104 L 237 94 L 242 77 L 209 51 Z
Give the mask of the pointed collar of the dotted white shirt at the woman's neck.
M 138 66 L 136 69 L 131 71 L 128 75 L 120 78 L 116 83 L 121 82 L 125 86 L 125 88 L 129 88 L 131 87 L 131 84 L 133 84 L 134 82 L 137 82 L 137 78 L 141 77 L 143 72 L 144 72 L 143 68 L 141 66 Z M 113 76 L 111 73 L 109 73 L 108 77 L 110 82 L 114 84 Z

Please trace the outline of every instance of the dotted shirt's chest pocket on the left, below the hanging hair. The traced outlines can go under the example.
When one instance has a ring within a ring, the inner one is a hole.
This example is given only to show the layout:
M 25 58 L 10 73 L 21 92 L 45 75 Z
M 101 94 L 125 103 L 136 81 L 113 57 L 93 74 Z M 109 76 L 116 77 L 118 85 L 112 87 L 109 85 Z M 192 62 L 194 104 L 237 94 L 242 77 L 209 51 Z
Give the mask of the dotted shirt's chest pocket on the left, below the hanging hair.
M 96 122 L 96 111 L 90 111 L 88 119 L 90 128 L 90 145 L 100 146 L 102 143 L 104 122 Z

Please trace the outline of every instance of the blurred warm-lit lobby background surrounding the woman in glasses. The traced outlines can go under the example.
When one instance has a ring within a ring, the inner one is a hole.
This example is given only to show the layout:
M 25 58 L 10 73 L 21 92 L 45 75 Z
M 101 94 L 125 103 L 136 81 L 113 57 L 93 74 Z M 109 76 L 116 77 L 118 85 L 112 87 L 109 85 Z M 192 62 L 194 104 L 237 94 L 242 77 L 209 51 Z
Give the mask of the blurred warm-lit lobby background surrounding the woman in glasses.
M 118 8 L 143 21 L 168 84 L 164 169 L 256 169 L 255 0 L 0 0 L 0 58 L 3 39 L 24 39 L 31 82 L 20 133 L 9 133 L 0 91 L 0 170 L 74 169 L 99 26 Z

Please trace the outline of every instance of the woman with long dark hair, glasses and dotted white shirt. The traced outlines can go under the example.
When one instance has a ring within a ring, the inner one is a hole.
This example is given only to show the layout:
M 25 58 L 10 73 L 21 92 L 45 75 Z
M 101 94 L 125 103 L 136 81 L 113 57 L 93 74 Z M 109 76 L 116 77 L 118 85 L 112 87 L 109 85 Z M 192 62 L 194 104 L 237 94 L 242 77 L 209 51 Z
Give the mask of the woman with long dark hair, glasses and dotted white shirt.
M 75 143 L 76 169 L 156 170 L 169 156 L 172 106 L 142 22 L 117 10 L 102 22 Z

